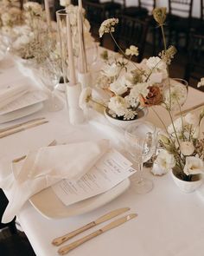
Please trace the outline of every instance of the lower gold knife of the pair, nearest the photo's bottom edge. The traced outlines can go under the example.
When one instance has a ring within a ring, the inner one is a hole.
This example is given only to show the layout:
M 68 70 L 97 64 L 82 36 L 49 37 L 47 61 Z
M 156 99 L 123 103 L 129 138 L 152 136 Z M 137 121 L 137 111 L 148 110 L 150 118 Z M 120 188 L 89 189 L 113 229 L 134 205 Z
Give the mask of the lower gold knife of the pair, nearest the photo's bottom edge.
M 101 233 L 105 233 L 106 231 L 124 224 L 124 222 L 131 220 L 133 218 L 137 217 L 137 213 L 131 213 L 129 215 L 126 215 L 118 220 L 114 220 L 111 223 L 109 223 L 108 225 L 98 229 L 97 231 L 90 233 L 88 235 L 86 235 L 85 237 L 81 238 L 80 240 L 76 240 L 73 243 L 67 245 L 67 246 L 63 246 L 58 250 L 58 253 L 61 255 L 65 255 L 67 253 L 69 253 L 71 250 L 73 250 L 74 248 L 76 248 L 77 246 L 80 246 L 81 244 L 85 243 L 88 240 L 91 240 L 92 238 L 98 236 Z

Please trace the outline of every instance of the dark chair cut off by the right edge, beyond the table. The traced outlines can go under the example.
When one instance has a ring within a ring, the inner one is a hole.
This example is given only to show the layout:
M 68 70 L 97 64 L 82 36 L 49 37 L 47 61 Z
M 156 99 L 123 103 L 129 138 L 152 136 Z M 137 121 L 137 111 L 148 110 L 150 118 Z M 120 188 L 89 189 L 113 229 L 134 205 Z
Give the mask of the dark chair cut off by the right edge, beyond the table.
M 196 88 L 197 83 L 204 76 L 204 35 L 194 34 L 190 35 L 190 37 L 184 79 Z M 203 87 L 201 90 L 204 91 Z

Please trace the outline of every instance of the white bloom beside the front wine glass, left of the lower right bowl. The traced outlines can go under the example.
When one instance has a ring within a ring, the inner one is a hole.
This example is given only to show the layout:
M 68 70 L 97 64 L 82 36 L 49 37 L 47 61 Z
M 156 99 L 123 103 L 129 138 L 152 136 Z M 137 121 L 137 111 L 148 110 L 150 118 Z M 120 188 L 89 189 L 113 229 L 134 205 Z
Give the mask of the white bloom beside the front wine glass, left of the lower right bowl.
M 163 174 L 175 167 L 175 157 L 166 150 L 161 150 L 156 157 L 156 164 L 163 170 Z

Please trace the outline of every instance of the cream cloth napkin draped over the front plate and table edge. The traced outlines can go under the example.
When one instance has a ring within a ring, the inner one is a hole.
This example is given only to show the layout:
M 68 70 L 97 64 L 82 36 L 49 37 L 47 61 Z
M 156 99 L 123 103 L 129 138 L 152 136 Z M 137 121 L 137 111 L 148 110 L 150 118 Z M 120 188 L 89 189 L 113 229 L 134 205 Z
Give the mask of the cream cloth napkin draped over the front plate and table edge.
M 22 164 L 13 164 L 13 174 L 0 183 L 9 194 L 2 222 L 12 220 L 23 204 L 42 189 L 62 179 L 80 179 L 108 148 L 107 140 L 40 148 L 28 154 Z

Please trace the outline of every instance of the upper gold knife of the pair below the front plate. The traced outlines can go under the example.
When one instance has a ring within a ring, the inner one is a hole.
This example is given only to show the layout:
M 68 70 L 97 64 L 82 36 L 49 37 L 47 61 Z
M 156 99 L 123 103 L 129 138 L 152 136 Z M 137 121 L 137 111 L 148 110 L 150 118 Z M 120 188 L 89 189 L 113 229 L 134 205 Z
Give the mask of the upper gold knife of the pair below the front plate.
M 92 226 L 97 226 L 102 222 L 105 222 L 106 220 L 111 220 L 112 218 L 118 216 L 119 214 L 125 213 L 127 211 L 129 211 L 130 208 L 129 207 L 124 207 L 124 208 L 119 208 L 117 210 L 114 210 L 110 213 L 106 213 L 105 215 L 99 217 L 97 220 L 93 220 L 92 222 L 86 224 L 85 226 L 81 226 L 80 228 L 73 230 L 70 233 L 67 233 L 61 237 L 58 237 L 56 239 L 54 239 L 52 241 L 52 244 L 54 246 L 60 246 L 62 243 L 64 243 L 67 240 L 70 240 L 71 238 L 73 238 L 74 236 L 76 236 L 79 233 L 82 233 L 84 231 L 86 231 L 87 229 L 91 228 Z

